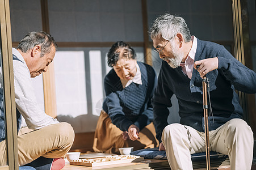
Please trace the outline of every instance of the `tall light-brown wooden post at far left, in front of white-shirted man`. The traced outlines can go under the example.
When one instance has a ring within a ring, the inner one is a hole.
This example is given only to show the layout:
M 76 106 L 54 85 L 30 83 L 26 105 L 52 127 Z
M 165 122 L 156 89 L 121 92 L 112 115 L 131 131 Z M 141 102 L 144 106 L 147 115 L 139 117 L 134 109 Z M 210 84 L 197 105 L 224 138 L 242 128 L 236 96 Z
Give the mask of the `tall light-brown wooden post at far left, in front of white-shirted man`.
M 3 71 L 3 94 L 5 107 L 6 124 L 6 160 L 9 169 L 18 169 L 18 141 L 17 141 L 17 122 L 16 104 L 14 93 L 14 74 L 11 49 L 11 20 L 9 1 L 0 0 L 0 33 L 1 33 L 1 54 Z

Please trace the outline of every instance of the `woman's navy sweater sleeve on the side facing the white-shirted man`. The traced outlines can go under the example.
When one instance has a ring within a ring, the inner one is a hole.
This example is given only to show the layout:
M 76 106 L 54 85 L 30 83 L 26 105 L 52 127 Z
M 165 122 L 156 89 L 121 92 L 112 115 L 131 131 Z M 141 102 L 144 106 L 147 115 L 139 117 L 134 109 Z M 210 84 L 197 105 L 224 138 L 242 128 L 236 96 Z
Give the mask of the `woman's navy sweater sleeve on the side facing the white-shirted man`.
M 106 105 L 108 107 L 108 115 L 112 121 L 112 124 L 116 125 L 122 131 L 128 131 L 129 126 L 133 123 L 131 120 L 125 117 L 123 108 L 120 105 L 120 100 L 117 94 L 113 90 L 111 81 L 108 78 L 104 80 L 104 88 L 106 92 Z

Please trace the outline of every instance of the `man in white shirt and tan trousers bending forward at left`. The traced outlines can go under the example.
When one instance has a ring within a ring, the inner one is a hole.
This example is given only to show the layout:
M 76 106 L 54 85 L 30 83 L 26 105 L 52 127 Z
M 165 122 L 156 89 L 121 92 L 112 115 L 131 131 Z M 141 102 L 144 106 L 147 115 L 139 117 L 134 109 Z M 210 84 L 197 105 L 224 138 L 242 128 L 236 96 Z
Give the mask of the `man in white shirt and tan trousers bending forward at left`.
M 62 158 L 74 141 L 74 131 L 70 124 L 58 122 L 39 108 L 31 83 L 31 78 L 47 71 L 56 48 L 53 37 L 45 32 L 30 32 L 20 41 L 17 49 L 12 48 L 18 130 L 22 117 L 28 128 L 33 130 L 18 136 L 19 165 L 31 163 L 40 156 L 44 160 L 50 159 L 52 163 L 60 163 L 61 159 L 57 158 Z M 2 92 L 1 87 L 0 165 L 5 165 L 7 158 Z

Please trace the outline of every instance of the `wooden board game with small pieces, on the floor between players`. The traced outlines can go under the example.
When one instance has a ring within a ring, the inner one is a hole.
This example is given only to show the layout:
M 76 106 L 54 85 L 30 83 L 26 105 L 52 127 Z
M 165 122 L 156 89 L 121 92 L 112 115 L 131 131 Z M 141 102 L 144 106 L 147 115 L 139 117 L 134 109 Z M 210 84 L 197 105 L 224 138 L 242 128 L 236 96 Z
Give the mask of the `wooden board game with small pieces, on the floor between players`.
M 144 158 L 134 155 L 114 155 L 106 156 L 104 158 L 94 158 L 94 159 L 79 159 L 70 161 L 70 165 L 81 165 L 87 167 L 98 167 L 103 165 L 113 165 L 113 164 L 122 164 L 122 163 L 131 163 L 131 162 L 141 162 Z

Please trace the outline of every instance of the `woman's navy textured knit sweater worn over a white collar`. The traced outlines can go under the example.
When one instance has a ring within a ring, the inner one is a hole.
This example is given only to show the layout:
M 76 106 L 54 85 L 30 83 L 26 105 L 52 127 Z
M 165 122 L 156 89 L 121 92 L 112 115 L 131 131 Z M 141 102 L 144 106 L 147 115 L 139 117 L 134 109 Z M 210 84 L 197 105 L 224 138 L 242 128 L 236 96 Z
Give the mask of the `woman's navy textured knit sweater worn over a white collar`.
M 157 84 L 157 76 L 153 67 L 137 62 L 141 71 L 142 84 L 131 83 L 123 88 L 120 78 L 114 69 L 104 78 L 106 99 L 103 110 L 111 121 L 122 131 L 128 131 L 135 124 L 140 130 L 153 121 L 151 99 Z

